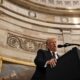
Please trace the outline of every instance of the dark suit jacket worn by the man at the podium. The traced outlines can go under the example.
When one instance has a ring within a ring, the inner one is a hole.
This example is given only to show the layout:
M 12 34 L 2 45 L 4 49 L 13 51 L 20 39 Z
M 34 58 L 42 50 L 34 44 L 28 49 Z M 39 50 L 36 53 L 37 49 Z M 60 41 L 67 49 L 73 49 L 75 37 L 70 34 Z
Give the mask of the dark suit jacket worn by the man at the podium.
M 53 58 L 49 50 L 39 49 L 34 60 L 36 70 L 31 80 L 45 80 L 46 68 L 44 67 L 47 60 Z

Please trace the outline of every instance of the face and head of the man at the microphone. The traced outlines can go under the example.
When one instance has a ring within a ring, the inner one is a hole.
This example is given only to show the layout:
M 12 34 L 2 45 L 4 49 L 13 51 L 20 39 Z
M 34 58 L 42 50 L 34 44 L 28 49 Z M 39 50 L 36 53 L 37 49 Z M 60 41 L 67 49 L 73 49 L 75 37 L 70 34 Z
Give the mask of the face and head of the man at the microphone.
M 56 39 L 54 39 L 54 38 L 49 39 L 48 42 L 47 42 L 47 48 L 50 51 L 55 52 L 57 50 L 57 45 L 56 44 L 57 44 Z

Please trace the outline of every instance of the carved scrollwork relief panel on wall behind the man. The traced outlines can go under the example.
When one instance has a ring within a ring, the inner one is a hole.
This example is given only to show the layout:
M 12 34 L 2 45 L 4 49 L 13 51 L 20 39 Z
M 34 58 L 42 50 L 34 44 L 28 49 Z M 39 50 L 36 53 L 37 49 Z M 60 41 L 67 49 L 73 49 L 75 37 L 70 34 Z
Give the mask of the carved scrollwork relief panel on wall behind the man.
M 22 49 L 25 51 L 36 52 L 38 49 L 45 49 L 45 41 L 22 37 L 8 33 L 7 44 L 10 47 Z

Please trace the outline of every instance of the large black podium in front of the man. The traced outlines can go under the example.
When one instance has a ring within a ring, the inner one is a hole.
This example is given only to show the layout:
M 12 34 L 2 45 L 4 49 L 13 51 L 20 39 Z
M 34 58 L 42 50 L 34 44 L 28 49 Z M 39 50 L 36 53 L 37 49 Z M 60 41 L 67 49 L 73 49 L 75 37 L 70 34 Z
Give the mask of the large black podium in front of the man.
M 58 59 L 54 68 L 48 66 L 45 80 L 80 80 L 79 52 L 74 47 Z

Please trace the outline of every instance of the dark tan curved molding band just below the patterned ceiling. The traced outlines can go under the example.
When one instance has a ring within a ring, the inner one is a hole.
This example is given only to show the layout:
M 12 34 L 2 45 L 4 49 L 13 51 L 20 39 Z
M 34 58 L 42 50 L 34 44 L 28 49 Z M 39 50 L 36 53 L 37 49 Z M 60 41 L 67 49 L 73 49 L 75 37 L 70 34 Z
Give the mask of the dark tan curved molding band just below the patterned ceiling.
M 79 8 L 60 8 L 60 7 L 49 7 L 46 5 L 38 4 L 35 2 L 32 2 L 31 0 L 8 0 L 11 1 L 17 5 L 20 5 L 22 7 L 39 11 L 39 12 L 45 12 L 49 14 L 55 14 L 55 15 L 68 15 L 68 16 L 78 16 L 80 15 L 80 9 Z

